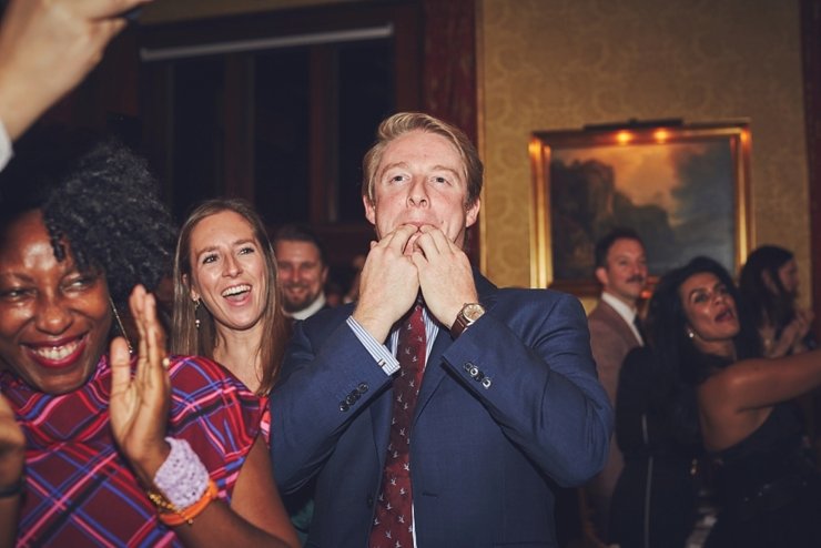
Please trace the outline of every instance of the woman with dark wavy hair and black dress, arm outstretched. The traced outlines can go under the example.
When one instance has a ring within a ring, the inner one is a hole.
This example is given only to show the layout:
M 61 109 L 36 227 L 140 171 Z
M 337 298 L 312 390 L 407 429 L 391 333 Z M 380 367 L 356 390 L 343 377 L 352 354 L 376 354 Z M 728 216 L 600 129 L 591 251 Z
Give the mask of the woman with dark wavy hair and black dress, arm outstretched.
M 682 390 L 695 389 L 716 465 L 720 510 L 707 546 L 821 546 L 821 476 L 790 402 L 821 384 L 821 352 L 759 357 L 732 278 L 711 258 L 665 275 L 653 300 L 656 357 Z

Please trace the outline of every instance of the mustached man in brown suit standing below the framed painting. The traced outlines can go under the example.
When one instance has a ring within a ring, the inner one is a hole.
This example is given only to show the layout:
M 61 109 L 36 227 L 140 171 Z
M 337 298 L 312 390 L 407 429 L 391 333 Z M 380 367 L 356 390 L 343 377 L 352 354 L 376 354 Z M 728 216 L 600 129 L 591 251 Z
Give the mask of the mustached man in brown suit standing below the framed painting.
M 637 303 L 647 282 L 647 257 L 639 235 L 620 227 L 602 236 L 596 243 L 595 274 L 601 298 L 587 318 L 590 347 L 599 380 L 615 408 L 621 364 L 632 348 L 645 344 Z M 596 534 L 604 541 L 608 540 L 610 498 L 621 468 L 621 451 L 611 443 L 605 469 L 586 486 Z

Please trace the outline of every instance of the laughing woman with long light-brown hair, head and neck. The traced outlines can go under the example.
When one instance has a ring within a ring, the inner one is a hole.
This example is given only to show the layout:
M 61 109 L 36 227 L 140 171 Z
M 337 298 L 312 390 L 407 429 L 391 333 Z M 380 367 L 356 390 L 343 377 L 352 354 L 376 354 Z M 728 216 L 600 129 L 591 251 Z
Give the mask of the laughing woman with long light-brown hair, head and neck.
M 254 209 L 236 199 L 196 206 L 174 255 L 172 349 L 215 359 L 265 395 L 290 335 L 278 298 L 274 251 Z

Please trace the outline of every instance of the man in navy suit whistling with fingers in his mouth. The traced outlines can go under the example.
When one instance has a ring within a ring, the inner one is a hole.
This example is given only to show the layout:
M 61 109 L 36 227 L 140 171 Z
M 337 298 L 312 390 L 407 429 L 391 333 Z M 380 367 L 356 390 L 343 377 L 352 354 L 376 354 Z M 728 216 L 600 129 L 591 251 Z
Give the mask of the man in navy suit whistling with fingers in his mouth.
M 363 166 L 378 240 L 359 300 L 297 324 L 271 396 L 281 489 L 316 478 L 306 546 L 398 544 L 371 532 L 399 368 L 396 325 L 419 296 L 427 351 L 408 430 L 413 542 L 557 546 L 553 489 L 601 469 L 612 423 L 584 309 L 553 291 L 497 288 L 472 270 L 463 246 L 483 166 L 458 129 L 395 114 Z

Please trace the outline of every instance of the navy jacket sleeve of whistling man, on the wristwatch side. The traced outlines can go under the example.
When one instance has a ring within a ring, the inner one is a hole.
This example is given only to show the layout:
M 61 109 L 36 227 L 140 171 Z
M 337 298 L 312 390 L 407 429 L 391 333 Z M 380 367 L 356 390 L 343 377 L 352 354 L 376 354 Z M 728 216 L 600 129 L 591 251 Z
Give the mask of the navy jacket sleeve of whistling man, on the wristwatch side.
M 612 408 L 577 300 L 501 290 L 496 306 L 443 357 L 507 437 L 558 484 L 580 485 L 601 470 Z M 476 383 L 466 363 L 490 377 L 490 386 Z

